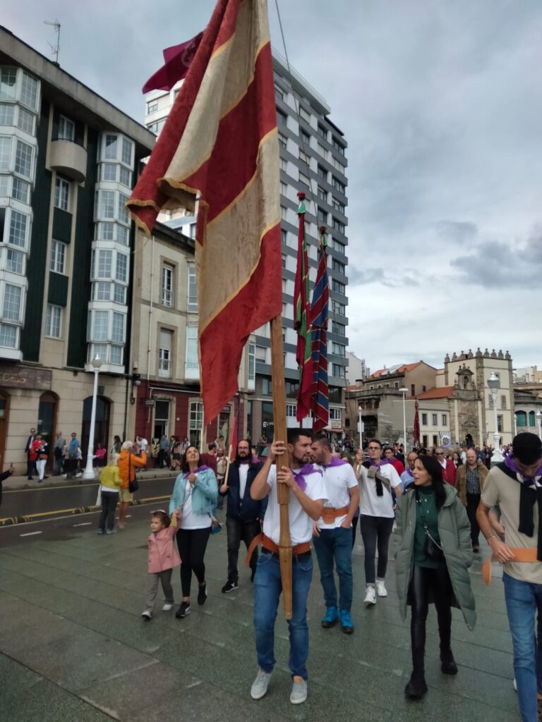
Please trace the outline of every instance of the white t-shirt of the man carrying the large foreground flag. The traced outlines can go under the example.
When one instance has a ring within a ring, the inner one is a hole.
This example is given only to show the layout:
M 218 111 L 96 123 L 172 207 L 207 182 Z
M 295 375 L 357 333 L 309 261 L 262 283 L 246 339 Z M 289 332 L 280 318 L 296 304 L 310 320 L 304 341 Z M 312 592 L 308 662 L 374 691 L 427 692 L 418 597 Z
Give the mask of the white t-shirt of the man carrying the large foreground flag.
M 314 471 L 314 474 L 307 474 L 304 479 L 306 483 L 305 493 L 309 499 L 327 499 L 324 477 L 319 471 Z M 264 516 L 264 534 L 269 536 L 275 544 L 278 544 L 280 541 L 280 509 L 277 500 L 277 467 L 275 464 L 269 470 L 267 484 L 270 485 L 271 491 L 269 492 L 269 503 Z M 304 541 L 311 541 L 312 519 L 304 511 L 293 492 L 290 492 L 288 517 L 290 519 L 292 546 L 303 544 Z

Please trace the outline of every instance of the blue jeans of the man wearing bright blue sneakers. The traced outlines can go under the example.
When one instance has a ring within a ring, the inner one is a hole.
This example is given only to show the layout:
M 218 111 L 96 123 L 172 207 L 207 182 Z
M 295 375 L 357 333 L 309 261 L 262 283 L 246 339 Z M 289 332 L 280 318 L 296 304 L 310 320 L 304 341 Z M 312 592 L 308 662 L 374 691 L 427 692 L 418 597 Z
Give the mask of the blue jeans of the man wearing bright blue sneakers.
M 333 576 L 333 562 L 339 576 L 339 609 L 350 612 L 352 607 L 352 529 L 320 529 L 320 536 L 312 539 L 320 567 L 320 581 L 326 606 L 337 606 L 337 589 Z

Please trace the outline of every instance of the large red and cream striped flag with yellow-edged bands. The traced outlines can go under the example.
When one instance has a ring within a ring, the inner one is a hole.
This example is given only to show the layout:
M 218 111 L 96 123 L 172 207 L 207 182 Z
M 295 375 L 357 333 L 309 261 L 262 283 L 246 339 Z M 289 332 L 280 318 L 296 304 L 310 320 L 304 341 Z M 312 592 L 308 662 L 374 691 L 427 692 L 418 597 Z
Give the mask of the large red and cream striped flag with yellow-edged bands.
M 209 423 L 237 391 L 246 339 L 282 310 L 277 116 L 265 0 L 218 0 L 128 206 L 194 209 L 199 360 Z

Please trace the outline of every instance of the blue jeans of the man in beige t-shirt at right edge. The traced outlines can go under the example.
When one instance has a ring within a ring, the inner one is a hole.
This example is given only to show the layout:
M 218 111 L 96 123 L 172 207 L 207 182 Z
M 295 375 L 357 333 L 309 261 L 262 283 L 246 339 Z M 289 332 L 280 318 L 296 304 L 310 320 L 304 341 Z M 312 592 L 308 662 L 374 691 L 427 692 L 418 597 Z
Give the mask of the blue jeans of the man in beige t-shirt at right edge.
M 535 612 L 542 604 L 542 584 L 523 582 L 503 573 L 504 599 L 514 648 L 517 699 L 523 722 L 537 722 L 537 677 L 542 681 L 540 655 L 535 650 Z

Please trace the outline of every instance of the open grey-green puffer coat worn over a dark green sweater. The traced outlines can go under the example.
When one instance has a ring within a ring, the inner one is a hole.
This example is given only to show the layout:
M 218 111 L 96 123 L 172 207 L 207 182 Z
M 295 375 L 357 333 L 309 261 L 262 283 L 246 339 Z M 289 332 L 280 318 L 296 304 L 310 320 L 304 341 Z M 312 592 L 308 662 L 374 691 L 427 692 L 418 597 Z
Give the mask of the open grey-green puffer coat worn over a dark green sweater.
M 455 599 L 452 599 L 452 606 L 461 609 L 467 626 L 472 630 L 476 624 L 476 612 L 468 573 L 468 567 L 473 563 L 470 523 L 465 507 L 457 497 L 454 487 L 444 484 L 444 489 L 446 490 L 446 501 L 439 510 L 439 536 L 455 596 Z M 395 521 L 397 523 L 395 529 L 397 596 L 399 596 L 401 616 L 406 619 L 409 601 L 408 587 L 413 566 L 414 526 L 416 525 L 416 493 L 413 487 L 397 497 Z M 430 601 L 432 600 L 430 599 Z

